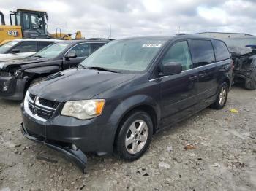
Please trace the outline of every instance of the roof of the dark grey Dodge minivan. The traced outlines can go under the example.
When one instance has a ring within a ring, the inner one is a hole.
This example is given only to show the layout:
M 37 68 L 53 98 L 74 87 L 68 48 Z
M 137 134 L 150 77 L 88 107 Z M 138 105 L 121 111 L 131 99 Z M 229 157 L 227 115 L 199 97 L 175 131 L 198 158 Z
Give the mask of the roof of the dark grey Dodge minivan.
M 133 36 L 124 39 L 186 39 L 186 38 L 194 38 L 194 39 L 216 39 L 209 36 L 202 36 L 198 34 L 177 34 L 175 36 Z M 217 39 L 219 40 L 219 39 Z

